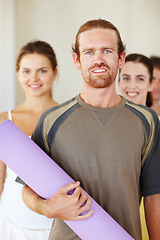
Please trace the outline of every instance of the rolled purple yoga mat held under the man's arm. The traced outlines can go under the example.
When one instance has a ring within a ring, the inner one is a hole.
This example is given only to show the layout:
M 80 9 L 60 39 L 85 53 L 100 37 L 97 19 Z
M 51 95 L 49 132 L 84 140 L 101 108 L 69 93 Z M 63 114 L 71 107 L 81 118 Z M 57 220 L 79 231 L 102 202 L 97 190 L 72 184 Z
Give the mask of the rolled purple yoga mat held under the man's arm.
M 0 124 L 0 159 L 38 195 L 46 199 L 62 186 L 74 182 L 10 120 Z M 82 240 L 133 240 L 93 198 L 91 209 L 94 213 L 89 219 L 65 221 Z

